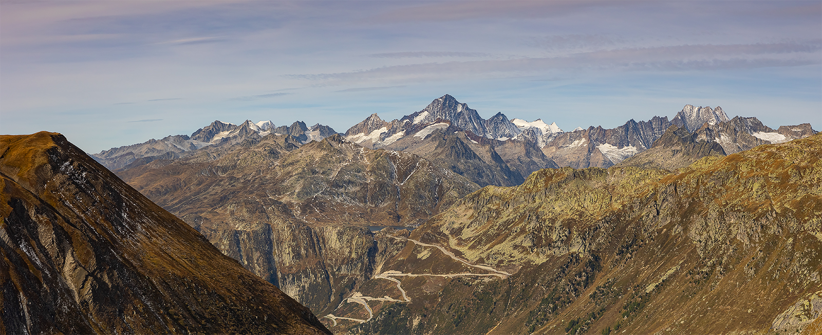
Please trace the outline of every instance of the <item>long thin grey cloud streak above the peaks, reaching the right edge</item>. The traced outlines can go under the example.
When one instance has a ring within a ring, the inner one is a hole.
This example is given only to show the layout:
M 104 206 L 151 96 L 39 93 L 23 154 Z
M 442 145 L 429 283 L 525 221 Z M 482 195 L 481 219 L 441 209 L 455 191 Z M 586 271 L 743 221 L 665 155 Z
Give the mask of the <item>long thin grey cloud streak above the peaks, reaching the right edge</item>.
M 322 80 L 328 85 L 364 80 L 441 80 L 455 76 L 494 76 L 496 73 L 533 71 L 704 71 L 797 67 L 820 62 L 822 40 L 807 43 L 697 44 L 651 48 L 617 48 L 561 57 L 521 57 L 507 60 L 421 63 L 377 67 L 365 71 L 287 75 Z M 447 76 L 446 76 L 447 75 Z

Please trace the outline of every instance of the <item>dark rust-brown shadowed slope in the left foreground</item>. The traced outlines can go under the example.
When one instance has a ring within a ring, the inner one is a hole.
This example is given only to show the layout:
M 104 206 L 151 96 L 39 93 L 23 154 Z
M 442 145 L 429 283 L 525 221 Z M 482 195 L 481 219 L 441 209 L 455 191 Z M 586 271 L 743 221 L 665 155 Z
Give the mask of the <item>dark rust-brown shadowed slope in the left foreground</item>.
M 329 333 L 62 135 L 0 153 L 0 333 Z

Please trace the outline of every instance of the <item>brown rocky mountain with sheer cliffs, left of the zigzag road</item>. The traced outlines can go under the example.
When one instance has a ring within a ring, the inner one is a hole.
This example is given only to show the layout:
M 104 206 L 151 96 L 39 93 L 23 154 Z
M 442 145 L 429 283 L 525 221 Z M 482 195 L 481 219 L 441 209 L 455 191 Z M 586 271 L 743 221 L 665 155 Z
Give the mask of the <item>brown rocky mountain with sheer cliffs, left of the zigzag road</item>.
M 479 187 L 413 154 L 332 135 L 268 135 L 118 172 L 151 200 L 317 313 L 397 250 L 367 226 L 414 226 Z

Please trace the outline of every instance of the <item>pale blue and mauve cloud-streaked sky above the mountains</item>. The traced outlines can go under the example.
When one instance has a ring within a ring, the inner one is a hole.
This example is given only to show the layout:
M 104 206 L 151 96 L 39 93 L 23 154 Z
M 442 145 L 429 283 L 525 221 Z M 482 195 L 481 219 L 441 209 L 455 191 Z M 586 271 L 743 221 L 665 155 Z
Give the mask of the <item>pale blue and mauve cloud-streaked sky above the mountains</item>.
M 0 1 L 0 134 L 88 153 L 444 94 L 566 131 L 686 104 L 820 131 L 822 2 Z

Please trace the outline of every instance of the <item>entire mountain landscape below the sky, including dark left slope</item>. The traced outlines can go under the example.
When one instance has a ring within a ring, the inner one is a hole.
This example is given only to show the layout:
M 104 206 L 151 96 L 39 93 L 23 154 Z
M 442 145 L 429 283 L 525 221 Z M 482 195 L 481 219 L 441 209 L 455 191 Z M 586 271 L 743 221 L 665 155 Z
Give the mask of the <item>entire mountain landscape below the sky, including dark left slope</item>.
M 6 333 L 822 333 L 808 123 L 563 131 L 446 94 L 344 133 L 0 144 Z

